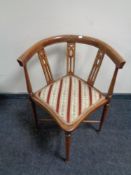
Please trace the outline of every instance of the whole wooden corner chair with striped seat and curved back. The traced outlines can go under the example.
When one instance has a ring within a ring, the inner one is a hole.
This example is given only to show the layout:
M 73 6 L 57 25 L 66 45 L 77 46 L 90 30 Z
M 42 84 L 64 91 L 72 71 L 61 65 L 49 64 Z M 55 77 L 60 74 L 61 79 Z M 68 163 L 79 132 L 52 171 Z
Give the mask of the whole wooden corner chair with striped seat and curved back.
M 62 42 L 67 43 L 67 72 L 65 76 L 54 80 L 44 48 Z M 76 43 L 87 44 L 98 48 L 87 81 L 74 74 Z M 36 53 L 38 54 L 47 85 L 33 92 L 27 70 L 27 63 Z M 103 94 L 94 87 L 105 55 L 115 64 L 115 70 L 107 94 Z M 99 131 L 101 130 L 109 111 L 118 70 L 123 67 L 125 60 L 111 46 L 101 40 L 87 36 L 61 35 L 37 42 L 18 58 L 18 62 L 20 66 L 24 68 L 27 91 L 32 104 L 36 127 L 38 128 L 38 118 L 35 104 L 39 105 L 43 110 L 47 110 L 54 121 L 64 130 L 66 160 L 68 161 L 70 156 L 71 133 L 81 122 L 99 123 Z M 103 106 L 101 119 L 98 121 L 87 120 L 89 116 L 101 106 Z

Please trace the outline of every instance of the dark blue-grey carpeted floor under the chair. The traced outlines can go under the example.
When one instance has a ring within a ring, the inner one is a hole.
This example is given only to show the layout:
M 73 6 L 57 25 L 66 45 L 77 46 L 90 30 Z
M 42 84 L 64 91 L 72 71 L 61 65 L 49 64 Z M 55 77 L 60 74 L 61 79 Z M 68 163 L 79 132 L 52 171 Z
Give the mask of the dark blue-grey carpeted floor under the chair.
M 38 115 L 49 116 L 40 109 Z M 103 130 L 95 128 L 82 124 L 73 133 L 65 163 L 57 125 L 43 124 L 36 132 L 28 99 L 1 100 L 0 175 L 131 175 L 131 100 L 112 100 Z

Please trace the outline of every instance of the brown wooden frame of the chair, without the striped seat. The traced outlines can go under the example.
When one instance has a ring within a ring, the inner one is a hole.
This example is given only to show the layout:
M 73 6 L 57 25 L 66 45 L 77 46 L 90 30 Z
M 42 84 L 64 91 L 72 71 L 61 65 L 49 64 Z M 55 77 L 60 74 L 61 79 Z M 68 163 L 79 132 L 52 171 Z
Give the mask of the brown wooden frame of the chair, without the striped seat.
M 93 105 L 93 107 L 91 107 L 86 113 L 83 114 L 81 118 L 79 118 L 72 125 L 66 125 L 65 123 L 63 123 L 59 119 L 57 114 L 54 113 L 46 104 L 44 104 L 38 98 L 38 93 L 35 93 L 32 91 L 30 77 L 29 77 L 28 70 L 27 70 L 28 61 L 32 58 L 32 56 L 35 53 L 37 53 L 42 69 L 43 69 L 43 72 L 45 74 L 47 84 L 53 83 L 54 82 L 53 76 L 51 73 L 51 69 L 50 69 L 47 55 L 46 55 L 44 48 L 48 45 L 61 43 L 61 42 L 67 43 L 67 75 L 68 74 L 74 75 L 76 43 L 87 44 L 87 45 L 91 45 L 91 46 L 98 48 L 98 52 L 97 52 L 93 67 L 91 69 L 88 80 L 86 82 L 88 85 L 92 87 L 94 87 L 94 83 L 97 78 L 97 75 L 98 75 L 100 66 L 102 64 L 102 61 L 104 59 L 104 56 L 107 55 L 115 64 L 114 74 L 113 74 L 106 98 L 101 100 L 98 104 Z M 31 48 L 29 48 L 23 55 L 21 55 L 18 58 L 18 62 L 20 66 L 23 66 L 24 68 L 27 91 L 29 93 L 29 97 L 31 100 L 36 127 L 38 128 L 38 119 L 36 116 L 35 104 L 38 104 L 41 108 L 43 108 L 44 110 L 47 110 L 51 114 L 53 121 L 56 121 L 56 123 L 58 123 L 58 125 L 65 131 L 66 160 L 69 160 L 71 133 L 79 126 L 81 122 L 100 123 L 99 131 L 101 130 L 103 123 L 105 121 L 105 118 L 109 111 L 109 105 L 110 105 L 110 101 L 112 98 L 118 70 L 124 66 L 125 60 L 111 46 L 109 46 L 105 42 L 98 40 L 96 38 L 92 38 L 88 36 L 81 36 L 81 35 L 60 35 L 60 36 L 50 37 L 50 38 L 37 42 Z M 101 106 L 103 106 L 103 112 L 102 112 L 100 121 L 85 120 L 85 119 L 88 119 L 89 116 Z

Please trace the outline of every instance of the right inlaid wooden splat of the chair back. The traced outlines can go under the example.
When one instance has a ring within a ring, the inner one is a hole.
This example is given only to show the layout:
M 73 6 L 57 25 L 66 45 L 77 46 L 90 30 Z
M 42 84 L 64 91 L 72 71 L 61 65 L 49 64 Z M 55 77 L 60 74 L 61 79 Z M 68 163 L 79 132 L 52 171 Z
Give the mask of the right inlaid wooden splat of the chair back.
M 97 52 L 93 67 L 92 67 L 91 72 L 90 72 L 89 77 L 88 77 L 88 83 L 91 86 L 93 86 L 94 83 L 95 83 L 97 74 L 99 72 L 101 63 L 103 61 L 103 58 L 104 58 L 104 51 L 99 49 L 98 52 Z

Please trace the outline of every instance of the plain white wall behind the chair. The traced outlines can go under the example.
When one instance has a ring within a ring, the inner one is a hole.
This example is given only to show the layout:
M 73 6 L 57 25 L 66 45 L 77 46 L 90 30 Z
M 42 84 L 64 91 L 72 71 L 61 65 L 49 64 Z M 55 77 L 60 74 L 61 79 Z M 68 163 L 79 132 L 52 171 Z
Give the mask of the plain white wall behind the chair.
M 112 45 L 127 61 L 119 72 L 115 92 L 131 92 L 130 0 L 0 0 L 0 92 L 26 92 L 17 57 L 36 41 L 59 34 L 93 36 Z M 65 71 L 65 47 L 58 44 L 47 48 L 55 78 Z M 95 51 L 77 45 L 76 73 L 85 79 Z M 42 71 L 36 59 L 30 64 L 37 89 L 44 83 Z M 96 82 L 103 91 L 112 70 L 112 63 L 106 59 Z

